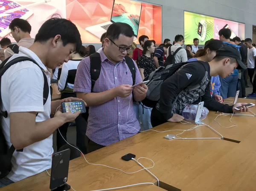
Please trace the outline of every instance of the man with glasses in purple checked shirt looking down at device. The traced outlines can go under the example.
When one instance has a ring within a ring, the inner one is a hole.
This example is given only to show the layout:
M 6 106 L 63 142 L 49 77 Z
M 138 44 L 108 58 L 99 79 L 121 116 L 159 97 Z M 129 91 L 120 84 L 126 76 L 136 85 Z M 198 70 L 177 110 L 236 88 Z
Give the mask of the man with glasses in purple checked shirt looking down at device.
M 128 24 L 113 23 L 108 28 L 105 47 L 99 52 L 101 71 L 93 92 L 90 58 L 84 58 L 77 68 L 74 92 L 90 107 L 86 131 L 88 152 L 131 137 L 140 130 L 133 99 L 143 100 L 148 87 L 143 84 L 131 88 L 133 80 L 125 56 L 132 50 L 133 39 L 134 32 Z M 135 62 L 134 69 L 137 84 L 142 78 Z

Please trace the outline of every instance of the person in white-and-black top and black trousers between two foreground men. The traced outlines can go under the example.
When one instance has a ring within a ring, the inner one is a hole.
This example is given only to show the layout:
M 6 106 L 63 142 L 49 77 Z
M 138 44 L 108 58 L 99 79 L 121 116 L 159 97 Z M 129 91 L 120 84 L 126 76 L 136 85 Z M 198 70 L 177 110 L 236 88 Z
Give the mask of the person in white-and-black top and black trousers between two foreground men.
M 67 63 L 64 63 L 60 66 L 59 73 L 60 77 L 58 80 L 58 88 L 61 91 L 61 99 L 67 97 L 76 97 L 76 93 L 73 93 L 74 83 L 76 78 L 76 69 L 81 60 L 84 59 L 86 54 L 86 48 L 84 46 L 81 47 L 78 53 L 70 54 L 70 60 Z M 76 146 L 84 153 L 87 153 L 87 149 L 85 146 L 85 133 L 86 133 L 86 120 L 83 117 L 83 114 L 80 114 L 76 118 Z M 61 127 L 59 127 L 59 131 L 57 131 L 57 150 L 66 144 L 65 140 L 67 140 L 67 128 L 69 123 L 65 123 Z M 64 137 L 65 140 L 61 137 Z

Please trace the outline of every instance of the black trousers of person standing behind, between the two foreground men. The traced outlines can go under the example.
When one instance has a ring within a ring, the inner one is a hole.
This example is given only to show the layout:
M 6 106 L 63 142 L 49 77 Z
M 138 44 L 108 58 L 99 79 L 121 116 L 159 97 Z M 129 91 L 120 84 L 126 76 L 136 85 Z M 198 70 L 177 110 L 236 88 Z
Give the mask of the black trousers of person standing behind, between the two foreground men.
M 67 97 L 76 97 L 75 93 L 62 93 L 61 99 L 67 98 Z M 76 146 L 82 151 L 84 154 L 87 154 L 87 148 L 85 145 L 85 133 L 87 128 L 87 122 L 84 119 L 83 115 L 80 114 L 76 118 Z M 60 130 L 61 134 L 57 130 L 57 150 L 61 148 L 61 146 L 65 145 L 67 140 L 67 128 L 69 123 L 65 123 L 58 129 Z M 65 140 L 61 137 L 61 135 L 64 137 Z

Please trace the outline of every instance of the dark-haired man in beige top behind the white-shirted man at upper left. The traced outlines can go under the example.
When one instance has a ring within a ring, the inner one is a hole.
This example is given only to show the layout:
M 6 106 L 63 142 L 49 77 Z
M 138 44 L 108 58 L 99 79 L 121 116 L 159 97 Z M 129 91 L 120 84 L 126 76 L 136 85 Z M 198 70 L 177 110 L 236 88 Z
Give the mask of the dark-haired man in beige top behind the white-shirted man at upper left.
M 18 46 L 29 48 L 34 43 L 34 38 L 30 37 L 31 25 L 26 20 L 16 18 L 9 25 L 12 36 Z M 5 57 L 8 58 L 14 54 L 11 48 L 6 48 Z

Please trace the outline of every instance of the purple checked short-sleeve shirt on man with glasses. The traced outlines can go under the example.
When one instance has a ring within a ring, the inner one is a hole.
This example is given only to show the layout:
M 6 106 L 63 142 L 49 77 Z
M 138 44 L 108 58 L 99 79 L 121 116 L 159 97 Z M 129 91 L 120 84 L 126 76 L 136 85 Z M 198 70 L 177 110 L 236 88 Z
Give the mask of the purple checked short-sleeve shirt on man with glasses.
M 93 87 L 93 92 L 103 92 L 122 84 L 132 86 L 131 71 L 125 59 L 114 65 L 106 57 L 103 50 L 99 52 L 102 65 L 99 79 Z M 142 78 L 136 68 L 135 84 L 140 83 Z M 86 57 L 79 63 L 76 72 L 74 92 L 91 92 L 90 58 Z M 138 133 L 140 123 L 133 109 L 132 94 L 128 97 L 115 97 L 112 100 L 90 106 L 86 135 L 99 145 L 111 145 Z

